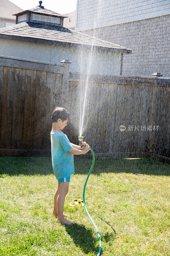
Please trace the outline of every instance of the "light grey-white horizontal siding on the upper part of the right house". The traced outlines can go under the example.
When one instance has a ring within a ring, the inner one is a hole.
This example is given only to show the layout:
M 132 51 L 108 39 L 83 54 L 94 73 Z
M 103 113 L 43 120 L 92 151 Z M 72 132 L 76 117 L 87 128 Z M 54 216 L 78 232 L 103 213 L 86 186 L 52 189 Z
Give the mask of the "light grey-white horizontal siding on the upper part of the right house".
M 77 31 L 170 14 L 168 0 L 77 0 Z

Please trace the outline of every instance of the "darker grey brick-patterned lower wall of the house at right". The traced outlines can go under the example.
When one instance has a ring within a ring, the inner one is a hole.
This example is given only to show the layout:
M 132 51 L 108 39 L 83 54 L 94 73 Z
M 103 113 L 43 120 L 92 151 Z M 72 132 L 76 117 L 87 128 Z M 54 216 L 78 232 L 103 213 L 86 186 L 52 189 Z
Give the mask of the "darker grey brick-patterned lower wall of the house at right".
M 81 31 L 132 50 L 123 55 L 123 76 L 170 77 L 169 16 Z

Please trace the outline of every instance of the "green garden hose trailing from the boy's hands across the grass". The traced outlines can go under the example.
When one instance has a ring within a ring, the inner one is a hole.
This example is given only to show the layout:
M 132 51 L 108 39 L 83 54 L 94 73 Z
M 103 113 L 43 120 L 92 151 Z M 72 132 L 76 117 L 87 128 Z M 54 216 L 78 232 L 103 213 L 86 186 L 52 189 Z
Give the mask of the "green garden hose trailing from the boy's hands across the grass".
M 101 252 L 101 246 L 102 246 L 102 244 L 101 244 L 101 237 L 100 237 L 100 234 L 99 234 L 99 230 L 98 230 L 98 228 L 96 227 L 96 224 L 94 223 L 94 221 L 92 220 L 92 217 L 90 216 L 90 214 L 89 214 L 89 212 L 88 212 L 88 210 L 87 210 L 87 207 L 86 207 L 86 205 L 85 205 L 85 187 L 86 187 L 86 184 L 87 184 L 87 180 L 88 180 L 88 178 L 89 178 L 89 176 L 90 176 L 90 173 L 92 172 L 93 165 L 94 165 L 94 160 L 95 160 L 94 152 L 93 152 L 92 148 L 90 148 L 90 150 L 91 150 L 91 152 L 92 152 L 93 161 L 92 161 L 92 166 L 91 166 L 90 171 L 89 171 L 89 173 L 88 173 L 88 175 L 87 175 L 87 178 L 86 178 L 86 181 L 85 181 L 85 186 L 84 186 L 84 189 L 83 189 L 83 203 L 84 203 L 84 206 L 85 206 L 85 210 L 86 210 L 86 212 L 87 212 L 87 215 L 89 216 L 89 219 L 91 220 L 91 222 L 92 222 L 94 228 L 96 229 L 96 232 L 97 232 L 97 235 L 98 235 L 98 238 L 99 238 L 99 246 L 100 246 L 100 247 L 99 247 L 99 252 L 98 252 L 98 254 L 97 254 L 97 256 L 99 256 L 99 255 L 100 255 L 100 252 Z

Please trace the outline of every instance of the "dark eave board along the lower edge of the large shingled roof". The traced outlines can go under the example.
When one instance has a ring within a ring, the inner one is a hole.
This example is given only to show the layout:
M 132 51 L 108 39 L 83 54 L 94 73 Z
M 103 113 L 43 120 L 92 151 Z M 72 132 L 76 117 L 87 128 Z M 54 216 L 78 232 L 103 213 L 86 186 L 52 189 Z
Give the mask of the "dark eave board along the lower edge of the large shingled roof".
M 76 44 L 76 43 L 70 43 L 70 42 L 38 39 L 38 38 L 33 38 L 33 37 L 11 36 L 11 35 L 0 34 L 0 38 L 7 39 L 7 40 L 29 42 L 29 43 L 37 43 L 37 44 L 49 44 L 49 45 L 55 45 L 55 46 L 73 47 L 73 48 L 86 49 L 86 50 L 92 49 L 92 46 L 87 45 L 87 44 Z M 130 50 L 130 49 L 110 48 L 110 47 L 95 46 L 95 45 L 93 46 L 92 50 L 102 51 L 102 52 L 123 53 L 123 54 L 131 54 L 132 53 L 132 50 Z

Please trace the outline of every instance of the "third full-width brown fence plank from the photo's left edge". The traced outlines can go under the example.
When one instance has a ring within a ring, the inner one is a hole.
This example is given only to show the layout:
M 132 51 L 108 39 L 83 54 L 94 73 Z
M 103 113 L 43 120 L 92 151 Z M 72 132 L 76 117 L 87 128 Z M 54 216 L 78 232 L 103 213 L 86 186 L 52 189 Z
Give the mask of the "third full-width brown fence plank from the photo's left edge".
M 26 69 L 22 149 L 32 149 L 33 145 L 36 73 L 36 70 Z

